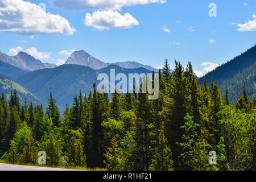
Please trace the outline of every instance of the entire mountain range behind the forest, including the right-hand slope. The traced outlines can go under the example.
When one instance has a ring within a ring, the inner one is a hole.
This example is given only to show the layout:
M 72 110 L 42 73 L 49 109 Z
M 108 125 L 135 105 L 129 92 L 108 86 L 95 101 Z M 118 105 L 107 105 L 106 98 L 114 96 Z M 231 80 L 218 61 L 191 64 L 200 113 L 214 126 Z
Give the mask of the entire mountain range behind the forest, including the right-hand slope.
M 16 56 L 7 56 L 0 52 L 0 92 L 9 94 L 16 89 L 22 101 L 27 96 L 29 100 L 43 104 L 44 107 L 49 92 L 52 92 L 60 110 L 63 111 L 65 104 L 71 105 L 73 97 L 79 94 L 80 90 L 88 94 L 93 89 L 93 83 L 99 82 L 98 74 L 106 73 L 110 77 L 110 69 L 115 69 L 115 74 L 125 73 L 126 76 L 129 73 L 147 74 L 155 70 L 136 62 L 104 63 L 85 51 L 73 52 L 66 63 L 59 67 L 42 63 L 24 52 L 19 52 Z M 256 45 L 209 72 L 205 77 L 208 84 L 212 77 L 217 81 L 222 95 L 228 87 L 230 100 L 234 102 L 242 92 L 244 81 L 249 96 L 255 97 L 255 70 Z M 199 81 L 203 84 L 204 78 L 199 78 Z

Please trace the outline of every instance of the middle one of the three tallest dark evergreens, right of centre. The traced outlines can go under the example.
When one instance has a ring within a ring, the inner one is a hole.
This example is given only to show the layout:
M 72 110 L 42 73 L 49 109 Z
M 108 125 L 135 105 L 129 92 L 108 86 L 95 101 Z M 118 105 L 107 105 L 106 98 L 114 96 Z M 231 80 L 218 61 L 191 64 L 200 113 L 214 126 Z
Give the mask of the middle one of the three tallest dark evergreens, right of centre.
M 183 73 L 184 68 L 175 60 L 172 81 L 167 87 L 169 92 L 164 97 L 164 100 L 166 100 L 163 109 L 164 134 L 172 148 L 172 159 L 174 160 L 175 168 L 180 167 L 178 157 L 182 150 L 180 146 L 177 146 L 176 142 L 181 142 L 183 131 L 180 127 L 185 123 L 184 117 L 187 114 L 188 106 L 187 77 Z

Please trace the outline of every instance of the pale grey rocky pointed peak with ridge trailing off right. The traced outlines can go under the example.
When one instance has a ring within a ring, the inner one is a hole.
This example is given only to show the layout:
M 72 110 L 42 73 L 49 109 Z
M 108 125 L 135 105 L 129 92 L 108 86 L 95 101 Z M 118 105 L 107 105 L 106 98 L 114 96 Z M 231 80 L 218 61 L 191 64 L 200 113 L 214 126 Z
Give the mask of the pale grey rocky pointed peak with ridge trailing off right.
M 136 68 L 145 68 L 149 71 L 155 71 L 158 72 L 158 69 L 155 69 L 149 65 L 143 65 L 140 63 L 137 63 L 135 61 L 126 61 L 126 62 L 117 62 L 117 63 L 104 63 L 101 60 L 96 59 L 95 57 L 89 55 L 89 53 L 85 52 L 84 50 L 81 51 L 74 51 L 71 56 L 69 56 L 68 60 L 65 62 L 65 64 L 77 64 L 77 65 L 83 65 L 86 67 L 90 67 L 93 69 L 101 69 L 106 68 L 109 65 L 118 65 L 121 68 L 126 69 L 136 69 Z

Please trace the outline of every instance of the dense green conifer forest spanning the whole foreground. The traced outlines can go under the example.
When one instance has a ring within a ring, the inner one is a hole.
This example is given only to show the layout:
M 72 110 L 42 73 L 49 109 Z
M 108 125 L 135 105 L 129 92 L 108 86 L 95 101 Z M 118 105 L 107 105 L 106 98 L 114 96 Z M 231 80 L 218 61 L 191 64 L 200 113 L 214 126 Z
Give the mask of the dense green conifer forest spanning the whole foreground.
M 38 152 L 45 151 L 47 166 L 255 170 L 256 98 L 248 97 L 247 86 L 232 105 L 232 90 L 221 95 L 217 82 L 206 78 L 200 85 L 191 63 L 184 68 L 175 61 L 171 73 L 166 60 L 157 100 L 143 93 L 100 94 L 94 84 L 61 114 L 51 93 L 45 111 L 28 100 L 21 103 L 16 91 L 2 94 L 1 160 L 36 164 Z M 217 155 L 214 164 L 210 151 Z

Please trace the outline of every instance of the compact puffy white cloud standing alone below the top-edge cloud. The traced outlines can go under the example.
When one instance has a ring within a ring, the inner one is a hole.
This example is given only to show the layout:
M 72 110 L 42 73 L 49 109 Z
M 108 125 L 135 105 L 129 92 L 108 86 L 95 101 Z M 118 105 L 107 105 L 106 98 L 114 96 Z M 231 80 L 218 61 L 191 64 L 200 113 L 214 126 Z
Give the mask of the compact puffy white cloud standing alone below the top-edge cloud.
M 137 26 L 139 22 L 129 13 L 124 15 L 118 11 L 95 11 L 93 14 L 86 13 L 84 24 L 98 30 L 108 30 L 109 28 L 131 28 Z

